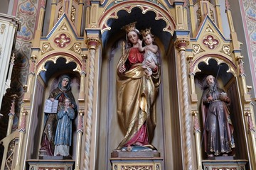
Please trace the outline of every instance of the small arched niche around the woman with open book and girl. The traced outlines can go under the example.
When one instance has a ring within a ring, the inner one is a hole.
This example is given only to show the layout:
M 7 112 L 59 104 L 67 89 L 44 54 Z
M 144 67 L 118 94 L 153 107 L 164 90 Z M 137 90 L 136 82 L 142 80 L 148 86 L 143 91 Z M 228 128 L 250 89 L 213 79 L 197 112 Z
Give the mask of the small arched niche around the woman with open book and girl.
M 33 100 L 31 106 L 33 117 L 31 118 L 31 135 L 29 145 L 31 151 L 31 158 L 38 159 L 40 156 L 39 149 L 41 148 L 41 138 L 44 128 L 45 113 L 43 112 L 44 104 L 49 94 L 58 86 L 60 77 L 63 74 L 71 78 L 71 90 L 78 105 L 78 95 L 80 91 L 80 62 L 75 57 L 67 55 L 52 55 L 46 57 L 44 60 L 38 62 L 37 74 L 35 77 L 35 88 L 33 89 Z M 75 159 L 75 144 L 76 144 L 76 129 L 78 125 L 78 115 L 73 120 L 73 140 L 70 147 L 70 154 Z M 36 148 L 36 149 L 35 149 Z

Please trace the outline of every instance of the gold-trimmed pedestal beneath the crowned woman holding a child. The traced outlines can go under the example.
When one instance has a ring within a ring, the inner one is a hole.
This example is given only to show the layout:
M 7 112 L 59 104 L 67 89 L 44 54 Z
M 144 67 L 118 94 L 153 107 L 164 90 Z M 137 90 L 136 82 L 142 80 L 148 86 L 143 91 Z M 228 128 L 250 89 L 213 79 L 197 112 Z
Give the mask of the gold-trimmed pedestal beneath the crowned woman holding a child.
M 112 170 L 147 169 L 161 170 L 163 158 L 159 152 L 112 152 Z

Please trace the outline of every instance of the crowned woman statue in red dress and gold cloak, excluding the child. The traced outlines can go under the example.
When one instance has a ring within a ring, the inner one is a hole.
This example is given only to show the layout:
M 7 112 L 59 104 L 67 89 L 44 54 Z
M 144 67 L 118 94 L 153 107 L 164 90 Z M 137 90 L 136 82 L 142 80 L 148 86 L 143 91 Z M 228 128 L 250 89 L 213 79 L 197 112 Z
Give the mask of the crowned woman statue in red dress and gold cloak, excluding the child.
M 130 47 L 123 52 L 117 64 L 117 114 L 123 125 L 124 139 L 117 149 L 147 147 L 151 144 L 156 127 L 156 97 L 160 84 L 160 67 L 146 60 L 151 76 L 142 67 L 144 55 L 139 52 L 139 30 L 135 22 L 124 26 Z

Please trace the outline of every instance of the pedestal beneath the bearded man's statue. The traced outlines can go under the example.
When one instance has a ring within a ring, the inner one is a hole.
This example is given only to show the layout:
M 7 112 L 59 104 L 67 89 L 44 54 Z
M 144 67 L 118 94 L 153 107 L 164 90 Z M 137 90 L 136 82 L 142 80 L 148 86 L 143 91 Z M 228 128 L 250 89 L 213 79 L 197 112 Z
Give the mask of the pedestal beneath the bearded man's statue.
M 217 170 L 217 169 L 236 169 L 236 170 L 245 170 L 245 165 L 247 164 L 245 159 L 237 160 L 203 160 L 203 169 L 204 170 Z

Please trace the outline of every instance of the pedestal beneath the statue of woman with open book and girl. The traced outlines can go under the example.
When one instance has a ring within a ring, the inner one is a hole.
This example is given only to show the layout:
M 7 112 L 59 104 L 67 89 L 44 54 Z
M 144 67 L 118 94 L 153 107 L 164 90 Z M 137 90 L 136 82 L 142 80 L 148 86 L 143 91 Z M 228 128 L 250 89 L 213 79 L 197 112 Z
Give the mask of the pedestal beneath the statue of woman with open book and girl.
M 53 160 L 53 159 L 31 159 L 27 161 L 29 169 L 43 170 L 43 169 L 58 169 L 58 170 L 72 170 L 75 161 L 73 160 Z

